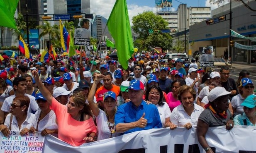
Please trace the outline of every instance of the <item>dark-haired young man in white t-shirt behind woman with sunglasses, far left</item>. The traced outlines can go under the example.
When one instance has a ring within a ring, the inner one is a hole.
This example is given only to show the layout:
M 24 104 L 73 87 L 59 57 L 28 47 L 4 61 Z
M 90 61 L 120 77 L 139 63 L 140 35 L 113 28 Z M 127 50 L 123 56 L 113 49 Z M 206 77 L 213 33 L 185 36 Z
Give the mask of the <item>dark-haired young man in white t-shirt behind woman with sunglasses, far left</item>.
M 28 112 L 35 112 L 38 109 L 38 105 L 35 101 L 35 97 L 26 94 L 26 91 L 27 91 L 26 78 L 22 78 L 22 77 L 15 78 L 13 80 L 13 89 L 15 91 L 15 95 L 12 95 L 6 98 L 2 104 L 1 110 L 4 112 L 4 115 L 0 116 L 0 121 L 4 120 L 5 116 L 10 112 L 10 107 L 13 99 L 19 95 L 22 95 L 22 96 L 24 95 L 29 97 L 30 103 L 29 103 Z

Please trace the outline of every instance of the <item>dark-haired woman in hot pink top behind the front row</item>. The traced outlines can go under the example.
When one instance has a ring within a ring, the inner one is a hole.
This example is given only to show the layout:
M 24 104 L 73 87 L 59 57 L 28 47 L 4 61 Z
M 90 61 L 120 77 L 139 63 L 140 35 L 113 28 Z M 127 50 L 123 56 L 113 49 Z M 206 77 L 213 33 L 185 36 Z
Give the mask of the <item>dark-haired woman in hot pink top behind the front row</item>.
M 178 105 L 181 104 L 180 100 L 178 100 L 178 91 L 179 91 L 180 86 L 183 86 L 185 84 L 186 84 L 186 82 L 181 79 L 174 80 L 171 83 L 173 92 L 170 92 L 167 94 L 168 105 L 169 105 L 171 112 L 173 111 L 174 108 L 176 108 Z

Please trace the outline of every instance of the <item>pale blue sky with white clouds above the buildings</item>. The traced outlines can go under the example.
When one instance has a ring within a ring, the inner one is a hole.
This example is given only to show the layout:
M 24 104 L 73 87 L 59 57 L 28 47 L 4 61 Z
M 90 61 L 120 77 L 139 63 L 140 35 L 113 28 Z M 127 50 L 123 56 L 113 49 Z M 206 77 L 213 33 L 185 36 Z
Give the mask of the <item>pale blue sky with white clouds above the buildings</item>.
M 90 12 L 101 15 L 108 19 L 116 0 L 91 0 Z M 187 7 L 211 7 L 217 8 L 217 5 L 210 5 L 210 0 L 172 0 L 172 11 L 176 11 L 181 3 L 187 4 Z M 129 19 L 143 13 L 144 11 L 156 12 L 155 0 L 127 0 Z M 130 22 L 132 23 L 132 22 Z

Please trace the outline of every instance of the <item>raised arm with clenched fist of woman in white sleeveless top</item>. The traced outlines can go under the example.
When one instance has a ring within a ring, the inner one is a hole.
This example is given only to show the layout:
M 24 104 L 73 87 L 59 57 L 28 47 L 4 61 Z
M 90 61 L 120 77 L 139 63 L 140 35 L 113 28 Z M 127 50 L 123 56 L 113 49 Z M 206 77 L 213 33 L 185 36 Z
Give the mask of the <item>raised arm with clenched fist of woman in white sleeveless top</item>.
M 88 95 L 88 103 L 90 105 L 91 110 L 93 111 L 93 115 L 95 115 L 96 117 L 99 115 L 100 109 L 98 108 L 98 105 L 96 103 L 94 103 L 93 98 L 95 96 L 97 84 L 103 79 L 103 77 L 104 77 L 104 75 L 102 75 L 102 74 L 96 75 L 94 82 L 93 82 L 93 86 L 90 89 L 90 93 Z

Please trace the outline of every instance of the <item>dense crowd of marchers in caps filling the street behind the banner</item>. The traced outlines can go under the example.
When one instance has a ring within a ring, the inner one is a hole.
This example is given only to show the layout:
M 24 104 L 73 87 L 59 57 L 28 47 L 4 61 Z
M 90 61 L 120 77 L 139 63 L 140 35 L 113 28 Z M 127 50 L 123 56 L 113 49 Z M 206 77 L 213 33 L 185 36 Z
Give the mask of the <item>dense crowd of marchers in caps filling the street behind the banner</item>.
M 209 127 L 256 126 L 248 71 L 235 81 L 227 66 L 205 72 L 195 59 L 165 62 L 149 52 L 136 57 L 128 69 L 108 56 L 2 61 L 0 131 L 39 131 L 80 146 L 152 128 L 197 127 L 201 146 L 212 153 L 205 139 Z

